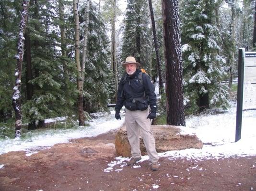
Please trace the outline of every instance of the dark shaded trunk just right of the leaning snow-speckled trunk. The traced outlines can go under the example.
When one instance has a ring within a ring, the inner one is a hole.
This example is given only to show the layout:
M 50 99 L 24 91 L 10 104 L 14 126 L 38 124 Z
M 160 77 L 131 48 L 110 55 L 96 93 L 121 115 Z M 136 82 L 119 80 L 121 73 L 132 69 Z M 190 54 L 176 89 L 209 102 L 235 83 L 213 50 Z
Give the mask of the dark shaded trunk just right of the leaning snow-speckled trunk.
M 27 100 L 32 100 L 34 95 L 34 87 L 30 80 L 33 79 L 32 74 L 32 64 L 31 64 L 31 41 L 28 30 L 25 32 L 25 60 L 26 60 L 26 90 L 27 90 Z M 28 122 L 28 130 L 35 130 L 35 119 L 33 116 L 30 116 L 30 120 Z

